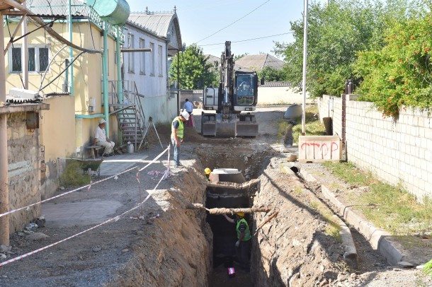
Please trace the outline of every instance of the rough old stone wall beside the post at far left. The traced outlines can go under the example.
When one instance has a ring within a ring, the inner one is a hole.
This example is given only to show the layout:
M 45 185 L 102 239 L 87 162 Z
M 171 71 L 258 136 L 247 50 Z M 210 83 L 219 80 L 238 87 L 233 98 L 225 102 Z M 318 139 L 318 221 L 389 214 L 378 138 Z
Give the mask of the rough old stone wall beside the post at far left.
M 27 129 L 27 113 L 7 115 L 9 210 L 40 201 L 39 129 Z M 23 230 L 39 216 L 40 205 L 9 215 L 9 231 Z

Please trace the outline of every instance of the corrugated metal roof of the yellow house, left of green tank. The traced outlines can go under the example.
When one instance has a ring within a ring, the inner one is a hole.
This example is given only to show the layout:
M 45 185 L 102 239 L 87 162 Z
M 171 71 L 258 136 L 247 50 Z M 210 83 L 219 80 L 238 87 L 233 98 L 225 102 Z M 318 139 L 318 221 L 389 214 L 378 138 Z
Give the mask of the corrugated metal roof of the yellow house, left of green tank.
M 69 14 L 69 0 L 28 0 L 27 8 L 37 15 L 66 16 Z M 89 6 L 83 1 L 72 0 L 72 16 L 89 16 Z

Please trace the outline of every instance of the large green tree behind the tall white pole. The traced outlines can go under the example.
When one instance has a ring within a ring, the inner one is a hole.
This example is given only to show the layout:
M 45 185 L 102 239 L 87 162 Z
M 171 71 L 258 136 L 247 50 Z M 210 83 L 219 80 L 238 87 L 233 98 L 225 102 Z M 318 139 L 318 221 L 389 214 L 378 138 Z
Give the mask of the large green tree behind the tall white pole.
M 402 0 L 331 1 L 329 6 L 312 3 L 308 13 L 307 90 L 312 97 L 341 95 L 345 79 L 353 78 L 352 64 L 360 51 L 383 47 L 382 33 L 388 15 L 404 17 L 409 4 Z M 286 80 L 302 82 L 303 19 L 291 22 L 294 42 L 275 43 L 283 57 Z

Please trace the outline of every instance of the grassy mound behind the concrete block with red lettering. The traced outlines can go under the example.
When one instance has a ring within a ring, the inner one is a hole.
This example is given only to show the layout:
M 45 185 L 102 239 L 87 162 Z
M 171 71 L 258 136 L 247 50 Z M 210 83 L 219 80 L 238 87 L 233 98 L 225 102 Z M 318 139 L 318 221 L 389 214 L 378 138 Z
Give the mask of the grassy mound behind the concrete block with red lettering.
M 305 115 L 305 134 L 307 136 L 322 136 L 326 128 L 324 124 L 319 121 L 318 106 L 310 105 L 306 107 Z M 302 135 L 302 117 L 295 119 L 297 124 L 292 127 L 292 137 L 294 142 L 298 144 L 298 138 Z

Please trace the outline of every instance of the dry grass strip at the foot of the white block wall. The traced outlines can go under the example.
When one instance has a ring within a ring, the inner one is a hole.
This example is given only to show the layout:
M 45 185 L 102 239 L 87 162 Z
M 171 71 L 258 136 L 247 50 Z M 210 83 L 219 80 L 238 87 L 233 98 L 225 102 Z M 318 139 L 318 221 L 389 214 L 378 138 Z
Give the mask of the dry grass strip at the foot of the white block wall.
M 324 166 L 351 185 L 368 186 L 369 191 L 356 199 L 358 209 L 377 227 L 393 235 L 423 233 L 432 228 L 432 201 L 421 204 L 402 187 L 380 182 L 370 172 L 363 172 L 352 163 L 326 162 Z

